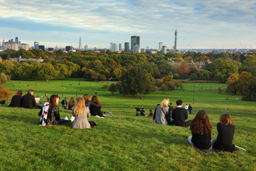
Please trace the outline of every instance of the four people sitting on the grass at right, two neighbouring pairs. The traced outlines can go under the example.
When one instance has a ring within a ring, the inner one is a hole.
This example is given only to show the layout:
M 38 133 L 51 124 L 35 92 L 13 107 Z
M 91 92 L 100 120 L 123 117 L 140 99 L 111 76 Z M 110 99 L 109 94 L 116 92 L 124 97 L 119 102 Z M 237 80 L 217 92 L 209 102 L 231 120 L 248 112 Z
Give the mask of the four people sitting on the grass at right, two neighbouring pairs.
M 212 126 L 206 110 L 200 110 L 193 120 L 187 120 L 188 112 L 182 108 L 182 100 L 176 101 L 175 109 L 169 105 L 169 101 L 165 98 L 156 106 L 154 123 L 190 127 L 192 136 L 188 137 L 188 142 L 200 152 L 233 152 L 235 150 L 233 145 L 235 123 L 230 115 L 227 113 L 220 115 L 220 122 L 217 124 L 218 137 L 216 140 L 211 140 Z

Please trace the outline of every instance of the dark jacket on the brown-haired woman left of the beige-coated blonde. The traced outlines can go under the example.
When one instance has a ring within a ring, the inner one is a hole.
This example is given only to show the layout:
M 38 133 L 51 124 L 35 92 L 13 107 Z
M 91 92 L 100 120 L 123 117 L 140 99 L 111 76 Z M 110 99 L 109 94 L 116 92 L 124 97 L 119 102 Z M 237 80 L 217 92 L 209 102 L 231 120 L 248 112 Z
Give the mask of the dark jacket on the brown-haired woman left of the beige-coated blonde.
M 55 104 L 50 104 L 46 124 L 47 125 L 58 125 L 60 120 L 59 107 Z

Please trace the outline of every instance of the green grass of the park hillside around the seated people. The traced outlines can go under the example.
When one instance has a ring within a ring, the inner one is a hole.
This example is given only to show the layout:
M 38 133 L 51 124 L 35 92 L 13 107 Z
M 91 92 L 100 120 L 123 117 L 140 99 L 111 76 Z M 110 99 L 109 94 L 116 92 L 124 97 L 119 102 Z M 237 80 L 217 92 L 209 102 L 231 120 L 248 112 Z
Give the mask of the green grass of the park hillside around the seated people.
M 68 89 L 65 95 L 75 95 L 80 86 L 85 89 L 78 95 L 90 93 L 87 89 L 91 84 L 92 90 L 97 90 L 102 110 L 113 114 L 105 119 L 91 116 L 89 120 L 97 123 L 95 128 L 75 130 L 72 123 L 40 127 L 38 110 L 1 105 L 1 170 L 255 170 L 255 102 L 245 102 L 240 96 L 224 92 L 219 94 L 216 89 L 193 92 L 193 84 L 188 88 L 184 84 L 184 91 L 151 93 L 140 100 L 141 96 L 107 95 L 110 92 L 100 88 L 102 83 L 81 80 L 78 86 L 79 81 L 71 81 L 73 90 Z M 50 85 L 56 87 L 54 90 L 44 81 L 37 81 L 37 86 L 33 86 L 34 81 L 20 81 L 23 86 L 19 87 L 8 83 L 5 88 L 13 93 L 16 90 L 25 92 L 29 84 L 36 95 L 44 95 L 46 91 L 48 95 L 60 95 L 61 84 L 68 85 L 71 81 L 50 81 Z M 211 86 L 217 88 L 220 85 Z M 225 100 L 226 97 L 230 100 Z M 181 99 L 185 104 L 193 104 L 194 98 L 194 113 L 188 119 L 193 119 L 198 110 L 206 110 L 213 126 L 213 139 L 218 135 L 216 124 L 220 114 L 229 113 L 236 126 L 233 143 L 247 151 L 204 155 L 189 145 L 187 138 L 191 131 L 188 128 L 158 125 L 152 118 L 134 116 L 135 106 L 143 106 L 149 113 L 149 109 L 154 110 L 163 98 L 171 99 L 172 103 Z M 70 118 L 71 112 L 60 109 L 60 117 L 65 115 Z

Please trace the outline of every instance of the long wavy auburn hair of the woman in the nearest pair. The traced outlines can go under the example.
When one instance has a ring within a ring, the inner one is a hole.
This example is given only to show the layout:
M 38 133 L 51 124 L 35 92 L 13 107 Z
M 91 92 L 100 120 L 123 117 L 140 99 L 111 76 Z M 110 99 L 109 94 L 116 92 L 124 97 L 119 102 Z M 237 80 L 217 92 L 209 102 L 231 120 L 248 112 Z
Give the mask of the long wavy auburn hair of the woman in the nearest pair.
M 211 133 L 211 130 L 213 129 L 210 125 L 210 120 L 208 118 L 208 115 L 206 113 L 206 110 L 200 110 L 196 117 L 193 118 L 191 121 L 191 132 L 196 135 L 203 135 Z

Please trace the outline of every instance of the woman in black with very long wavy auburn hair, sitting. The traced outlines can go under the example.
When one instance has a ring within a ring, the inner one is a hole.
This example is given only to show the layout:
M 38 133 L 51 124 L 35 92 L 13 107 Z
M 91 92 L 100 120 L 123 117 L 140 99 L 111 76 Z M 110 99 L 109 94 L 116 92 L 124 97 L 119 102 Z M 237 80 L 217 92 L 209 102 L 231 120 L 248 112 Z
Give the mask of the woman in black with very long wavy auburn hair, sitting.
M 213 129 L 206 110 L 200 110 L 191 121 L 190 129 L 192 136 L 188 137 L 188 142 L 199 152 L 213 152 L 212 146 L 215 140 L 211 140 L 210 133 Z

